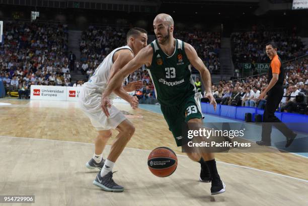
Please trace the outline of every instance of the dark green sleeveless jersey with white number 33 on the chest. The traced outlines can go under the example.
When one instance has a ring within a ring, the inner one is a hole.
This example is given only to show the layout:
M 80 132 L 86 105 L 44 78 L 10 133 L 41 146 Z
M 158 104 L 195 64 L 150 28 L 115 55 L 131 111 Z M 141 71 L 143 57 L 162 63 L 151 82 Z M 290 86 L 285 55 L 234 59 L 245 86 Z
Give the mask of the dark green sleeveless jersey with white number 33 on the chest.
M 153 58 L 147 71 L 153 81 L 158 102 L 164 106 L 181 104 L 196 93 L 191 77 L 191 65 L 184 50 L 184 42 L 176 39 L 175 51 L 168 56 L 157 40 L 151 42 Z

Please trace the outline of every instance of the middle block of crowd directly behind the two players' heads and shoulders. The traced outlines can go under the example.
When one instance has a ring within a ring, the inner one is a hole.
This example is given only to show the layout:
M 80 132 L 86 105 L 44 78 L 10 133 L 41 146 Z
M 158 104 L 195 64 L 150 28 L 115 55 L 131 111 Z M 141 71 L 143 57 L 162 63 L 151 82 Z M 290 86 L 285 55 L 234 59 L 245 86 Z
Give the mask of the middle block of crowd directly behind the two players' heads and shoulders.
M 176 32 L 174 36 L 194 46 L 212 74 L 219 72 L 220 33 L 202 31 Z M 126 45 L 126 32 L 124 29 L 111 27 L 98 29 L 90 26 L 82 33 L 80 41 L 81 62 L 76 62 L 76 67 L 89 79 L 108 53 L 123 45 Z M 137 73 L 132 76 L 136 76 Z M 143 76 L 147 76 L 145 70 L 139 73 L 140 79 Z

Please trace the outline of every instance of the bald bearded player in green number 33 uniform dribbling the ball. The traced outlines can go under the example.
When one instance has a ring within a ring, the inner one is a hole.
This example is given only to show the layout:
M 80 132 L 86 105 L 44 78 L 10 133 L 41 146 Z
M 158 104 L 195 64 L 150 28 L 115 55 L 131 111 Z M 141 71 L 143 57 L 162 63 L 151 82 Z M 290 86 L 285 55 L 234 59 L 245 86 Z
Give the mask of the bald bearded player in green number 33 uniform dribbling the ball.
M 182 123 L 195 122 L 202 125 L 201 93 L 195 88 L 191 77 L 191 65 L 200 72 L 205 84 L 205 96 L 216 109 L 216 102 L 211 94 L 210 73 L 190 44 L 173 37 L 174 21 L 170 15 L 157 15 L 153 21 L 153 28 L 157 39 L 141 49 L 114 76 L 102 96 L 101 106 L 103 112 L 109 116 L 108 109 L 111 106 L 109 95 L 115 88 L 121 86 L 126 76 L 145 64 L 169 130 L 177 146 L 182 146 Z M 211 194 L 225 191 L 213 153 L 187 153 L 187 155 L 201 164 L 199 179 L 203 182 L 211 181 Z

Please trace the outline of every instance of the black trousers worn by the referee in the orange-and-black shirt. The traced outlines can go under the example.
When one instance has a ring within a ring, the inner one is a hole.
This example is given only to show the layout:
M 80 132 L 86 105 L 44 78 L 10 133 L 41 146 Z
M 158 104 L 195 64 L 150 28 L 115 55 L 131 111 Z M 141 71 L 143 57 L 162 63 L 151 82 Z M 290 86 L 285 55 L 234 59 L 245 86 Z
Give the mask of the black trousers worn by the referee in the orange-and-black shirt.
M 283 135 L 290 136 L 293 131 L 282 123 L 276 116 L 275 111 L 283 96 L 282 85 L 275 85 L 269 92 L 266 99 L 265 110 L 263 114 L 262 124 L 262 141 L 265 143 L 271 142 L 272 126 L 274 125 Z

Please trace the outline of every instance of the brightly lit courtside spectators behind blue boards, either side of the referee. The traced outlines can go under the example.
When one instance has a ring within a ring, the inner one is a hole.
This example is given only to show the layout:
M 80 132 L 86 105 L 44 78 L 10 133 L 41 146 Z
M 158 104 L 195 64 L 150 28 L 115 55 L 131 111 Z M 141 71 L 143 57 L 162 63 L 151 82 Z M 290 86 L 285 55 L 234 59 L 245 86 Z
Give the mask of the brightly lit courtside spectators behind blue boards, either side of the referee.
M 212 86 L 216 102 L 222 105 L 265 108 L 266 97 L 259 100 L 260 93 L 267 87 L 267 77 L 250 77 L 244 81 L 220 81 Z M 288 63 L 286 66 L 284 97 L 280 103 L 281 112 L 308 114 L 308 57 Z M 208 99 L 204 98 L 207 102 Z

